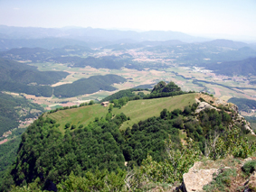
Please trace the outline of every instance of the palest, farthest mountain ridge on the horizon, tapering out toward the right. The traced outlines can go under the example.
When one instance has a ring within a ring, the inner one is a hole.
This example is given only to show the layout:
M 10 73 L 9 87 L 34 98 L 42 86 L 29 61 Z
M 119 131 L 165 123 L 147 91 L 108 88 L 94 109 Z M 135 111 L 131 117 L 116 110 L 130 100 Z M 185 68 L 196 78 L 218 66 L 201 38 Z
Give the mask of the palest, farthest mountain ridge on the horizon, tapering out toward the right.
M 130 39 L 134 41 L 167 41 L 180 40 L 185 42 L 207 41 L 209 39 L 194 37 L 184 32 L 133 32 L 119 30 L 105 30 L 93 28 L 36 28 L 10 27 L 0 25 L 0 34 L 3 39 L 42 39 L 65 38 L 80 41 L 119 41 Z

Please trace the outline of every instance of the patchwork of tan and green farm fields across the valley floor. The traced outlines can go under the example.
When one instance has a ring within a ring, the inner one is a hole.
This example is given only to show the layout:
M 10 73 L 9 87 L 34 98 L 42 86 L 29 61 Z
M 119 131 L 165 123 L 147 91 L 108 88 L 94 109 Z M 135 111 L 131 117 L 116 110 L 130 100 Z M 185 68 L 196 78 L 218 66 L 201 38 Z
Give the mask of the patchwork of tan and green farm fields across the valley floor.
M 103 50 L 102 50 L 103 51 Z M 104 51 L 103 51 L 104 52 Z M 133 55 L 135 58 L 147 58 L 147 54 L 150 52 L 139 52 L 134 50 L 132 52 L 128 52 L 129 54 Z M 113 55 L 115 52 L 111 50 L 106 50 L 104 54 Z M 153 54 L 153 53 L 152 53 Z M 150 55 L 150 54 L 149 54 Z M 96 56 L 96 55 L 95 55 Z M 162 58 L 163 62 L 165 62 L 165 58 Z M 143 60 L 141 62 L 144 62 Z M 155 61 L 154 61 L 155 62 Z M 154 63 L 153 61 L 151 63 Z M 63 84 L 72 83 L 81 78 L 90 78 L 91 76 L 96 75 L 107 75 L 107 74 L 116 74 L 123 78 L 127 78 L 128 81 L 122 84 L 114 84 L 113 87 L 118 88 L 118 90 L 128 89 L 132 87 L 137 87 L 139 85 L 147 85 L 147 84 L 156 84 L 161 80 L 164 81 L 174 81 L 176 85 L 182 88 L 184 91 L 207 91 L 213 96 L 219 97 L 225 101 L 227 101 L 231 97 L 239 97 L 239 98 L 249 98 L 256 100 L 256 90 L 253 90 L 255 86 L 250 85 L 249 80 L 244 80 L 241 77 L 224 77 L 224 76 L 217 76 L 213 74 L 209 70 L 204 70 L 195 67 L 181 67 L 172 61 L 171 64 L 166 59 L 166 64 L 168 64 L 168 68 L 165 69 L 144 69 L 144 70 L 137 70 L 137 69 L 94 69 L 90 68 L 89 66 L 85 68 L 70 68 L 65 64 L 58 64 L 58 63 L 51 63 L 51 62 L 44 62 L 44 63 L 35 63 L 31 64 L 40 70 L 60 70 L 66 71 L 70 75 L 67 78 L 63 78 L 60 82 L 53 84 L 52 87 L 56 87 Z M 157 65 L 157 62 L 156 62 Z M 253 78 L 253 77 L 251 77 Z M 194 80 L 202 80 L 212 82 L 198 82 L 194 83 Z M 214 85 L 215 84 L 215 85 Z M 218 84 L 218 85 L 216 85 Z M 222 86 L 223 85 L 223 86 Z M 229 88 L 229 87 L 248 87 L 248 89 L 236 89 L 236 88 Z M 251 89 L 252 88 L 252 89 Z M 78 105 L 81 102 L 86 102 L 88 100 L 96 100 L 99 101 L 100 99 L 109 96 L 113 92 L 108 91 L 101 91 L 90 95 L 83 95 L 83 96 L 75 96 L 71 98 L 56 98 L 56 97 L 32 97 L 32 101 L 43 105 L 46 109 L 54 109 L 58 106 L 65 105 Z

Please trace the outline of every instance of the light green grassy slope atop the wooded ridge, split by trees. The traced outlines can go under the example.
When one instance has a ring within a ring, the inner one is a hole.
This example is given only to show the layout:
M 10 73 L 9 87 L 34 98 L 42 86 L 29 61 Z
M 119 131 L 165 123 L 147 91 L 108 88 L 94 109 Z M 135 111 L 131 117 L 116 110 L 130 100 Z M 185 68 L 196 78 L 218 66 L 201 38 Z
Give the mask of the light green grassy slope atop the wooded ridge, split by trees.
M 121 109 L 114 108 L 113 114 L 124 113 L 131 118 L 130 121 L 123 123 L 121 129 L 126 129 L 128 126 L 132 126 L 134 123 L 138 123 L 140 120 L 145 120 L 148 117 L 159 116 L 160 112 L 166 108 L 168 111 L 172 111 L 176 108 L 184 108 L 185 105 L 192 105 L 194 103 L 194 97 L 196 94 L 186 94 L 182 96 L 163 97 L 147 100 L 129 101 L 127 105 Z M 60 123 L 60 129 L 64 133 L 65 123 L 80 125 L 88 124 L 94 121 L 95 117 L 105 117 L 108 113 L 109 107 L 103 107 L 97 105 L 87 105 L 79 108 L 73 108 L 69 110 L 58 111 L 53 114 L 47 114 L 50 118 Z

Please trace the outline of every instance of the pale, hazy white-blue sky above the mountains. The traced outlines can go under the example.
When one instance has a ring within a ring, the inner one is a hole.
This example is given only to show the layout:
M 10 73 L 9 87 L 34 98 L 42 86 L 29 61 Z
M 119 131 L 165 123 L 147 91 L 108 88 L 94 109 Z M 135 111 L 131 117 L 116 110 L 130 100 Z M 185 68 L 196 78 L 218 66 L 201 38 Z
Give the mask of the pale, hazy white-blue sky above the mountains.
M 0 24 L 173 31 L 256 40 L 256 0 L 0 0 Z

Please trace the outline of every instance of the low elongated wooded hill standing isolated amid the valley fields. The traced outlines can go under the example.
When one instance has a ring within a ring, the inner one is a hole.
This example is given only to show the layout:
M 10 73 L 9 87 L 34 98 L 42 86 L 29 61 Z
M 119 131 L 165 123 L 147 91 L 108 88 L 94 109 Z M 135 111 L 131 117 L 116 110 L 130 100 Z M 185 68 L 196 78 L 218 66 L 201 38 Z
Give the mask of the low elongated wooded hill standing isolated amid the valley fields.
M 84 94 L 92 94 L 100 90 L 114 91 L 117 88 L 112 87 L 114 83 L 123 83 L 126 78 L 117 75 L 92 76 L 90 78 L 81 78 L 72 84 L 66 84 L 54 87 L 54 96 L 72 97 Z

